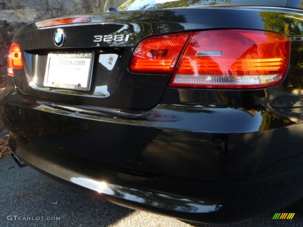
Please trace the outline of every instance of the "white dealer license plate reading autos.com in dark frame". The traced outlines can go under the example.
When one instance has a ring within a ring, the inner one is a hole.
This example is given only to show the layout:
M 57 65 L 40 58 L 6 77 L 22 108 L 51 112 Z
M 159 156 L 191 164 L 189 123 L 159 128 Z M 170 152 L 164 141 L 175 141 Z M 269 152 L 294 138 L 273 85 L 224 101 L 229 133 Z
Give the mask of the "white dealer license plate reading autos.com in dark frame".
M 43 85 L 72 90 L 90 89 L 94 52 L 56 52 L 47 56 Z

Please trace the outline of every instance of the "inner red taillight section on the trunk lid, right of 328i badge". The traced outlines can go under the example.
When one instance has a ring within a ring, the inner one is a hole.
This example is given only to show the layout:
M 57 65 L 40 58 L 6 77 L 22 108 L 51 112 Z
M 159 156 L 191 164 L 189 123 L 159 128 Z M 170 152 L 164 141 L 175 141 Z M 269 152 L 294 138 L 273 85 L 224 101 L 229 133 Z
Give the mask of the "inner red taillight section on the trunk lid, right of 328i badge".
M 190 34 L 184 32 L 145 39 L 134 52 L 130 70 L 171 74 Z

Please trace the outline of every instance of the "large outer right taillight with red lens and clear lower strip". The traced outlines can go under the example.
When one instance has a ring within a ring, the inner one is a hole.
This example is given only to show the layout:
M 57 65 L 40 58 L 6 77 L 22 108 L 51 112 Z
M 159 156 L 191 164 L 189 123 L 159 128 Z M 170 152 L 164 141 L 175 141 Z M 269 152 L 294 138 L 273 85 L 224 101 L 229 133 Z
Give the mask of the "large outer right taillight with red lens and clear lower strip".
M 194 32 L 171 87 L 258 88 L 280 83 L 288 68 L 290 41 L 266 31 Z

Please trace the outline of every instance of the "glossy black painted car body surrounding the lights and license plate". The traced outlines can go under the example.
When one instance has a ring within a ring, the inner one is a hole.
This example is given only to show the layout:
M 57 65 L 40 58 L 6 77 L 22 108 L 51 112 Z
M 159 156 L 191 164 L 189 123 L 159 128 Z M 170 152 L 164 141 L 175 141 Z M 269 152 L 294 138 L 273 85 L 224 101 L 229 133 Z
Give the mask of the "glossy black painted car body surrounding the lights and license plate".
M 0 114 L 15 155 L 116 203 L 187 220 L 235 221 L 303 197 L 303 108 L 292 98 L 303 78 L 301 11 L 225 6 L 91 17 L 86 25 L 58 26 L 67 35 L 62 48 L 52 40 L 56 28 L 32 24 L 14 38 L 25 69 L 9 77 Z M 146 37 L 222 28 L 291 37 L 285 80 L 268 89 L 189 89 L 167 87 L 170 75 L 128 71 Z M 128 42 L 93 41 L 129 33 Z M 43 87 L 47 53 L 67 50 L 95 52 L 88 92 Z

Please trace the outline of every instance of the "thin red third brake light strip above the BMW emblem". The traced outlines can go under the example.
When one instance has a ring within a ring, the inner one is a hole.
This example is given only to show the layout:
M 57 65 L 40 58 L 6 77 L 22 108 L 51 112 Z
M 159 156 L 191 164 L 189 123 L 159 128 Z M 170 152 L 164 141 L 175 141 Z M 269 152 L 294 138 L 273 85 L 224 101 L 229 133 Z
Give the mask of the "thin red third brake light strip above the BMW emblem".
M 77 17 L 66 17 L 58 19 L 50 19 L 46 21 L 40 21 L 36 23 L 38 28 L 56 26 L 56 25 L 66 25 L 66 24 L 77 24 L 90 22 L 92 19 L 90 16 L 77 16 Z

